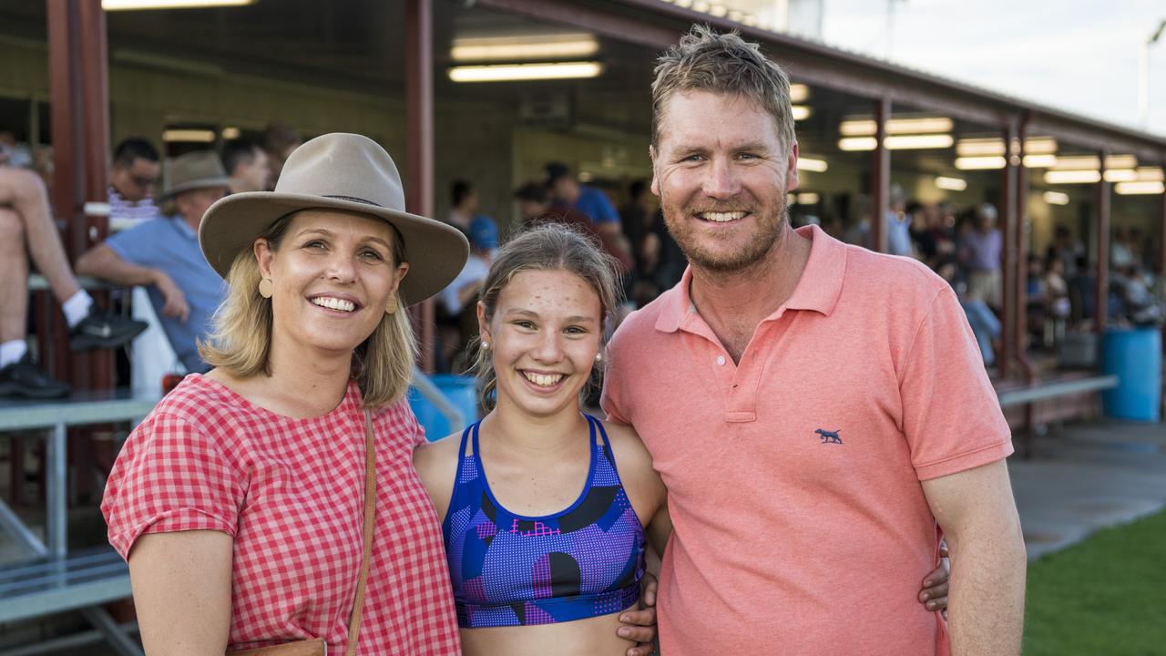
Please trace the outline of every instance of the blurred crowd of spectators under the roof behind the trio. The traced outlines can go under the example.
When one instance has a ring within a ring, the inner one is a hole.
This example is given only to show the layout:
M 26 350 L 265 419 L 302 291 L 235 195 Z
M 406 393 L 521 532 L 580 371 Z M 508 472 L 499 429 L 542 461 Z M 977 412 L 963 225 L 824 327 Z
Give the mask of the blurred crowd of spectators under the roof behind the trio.
M 111 153 L 112 236 L 70 266 L 47 194 L 51 149 L 30 149 L 0 130 L 0 247 L 12 253 L 0 264 L 12 287 L 3 292 L 8 302 L 0 313 L 0 396 L 52 398 L 70 392 L 36 364 L 27 348 L 29 259 L 61 302 L 75 348 L 118 348 L 156 322 L 164 340 L 155 348 L 162 354 L 147 351 L 142 357 L 162 361 L 163 369 L 204 371 L 196 342 L 206 334 L 225 289 L 198 251 L 202 215 L 226 194 L 273 189 L 287 155 L 302 141 L 294 130 L 273 125 L 262 139 L 234 139 L 217 151 L 196 149 L 163 161 L 148 139 L 122 140 Z M 513 200 L 517 221 L 499 222 L 483 212 L 473 181 L 450 184 L 450 210 L 443 218 L 466 236 L 472 252 L 436 303 L 440 371 L 469 369 L 466 346 L 477 334 L 477 293 L 499 242 L 514 228 L 549 221 L 589 233 L 620 263 L 626 299 L 620 317 L 675 285 L 687 265 L 645 180 L 600 188 L 584 183 L 561 162 L 547 162 L 542 177 L 521 184 Z M 861 196 L 855 207 L 855 216 L 845 217 L 849 221 L 823 219 L 802 205 L 792 205 L 791 218 L 795 225 L 820 224 L 844 242 L 870 247 L 871 202 Z M 991 203 L 923 203 L 892 184 L 886 223 L 890 253 L 918 259 L 956 291 L 989 368 L 995 365 L 1002 333 L 1004 239 L 998 216 Z M 1104 301 L 1114 326 L 1161 322 L 1163 285 L 1151 268 L 1156 247 L 1138 228 L 1114 230 Z M 1095 257 L 1065 225 L 1055 228 L 1044 252 L 1027 254 L 1026 314 L 1033 354 L 1059 357 L 1060 364 L 1088 364 L 1077 362 L 1074 349 L 1079 336 L 1094 328 Z M 115 286 L 143 287 L 150 308 L 145 313 L 139 308 L 134 316 L 145 322 L 128 317 L 128 296 L 117 292 L 112 307 L 94 305 L 75 272 Z M 145 348 L 150 347 L 142 344 L 139 351 Z M 121 364 L 125 378 L 125 355 Z

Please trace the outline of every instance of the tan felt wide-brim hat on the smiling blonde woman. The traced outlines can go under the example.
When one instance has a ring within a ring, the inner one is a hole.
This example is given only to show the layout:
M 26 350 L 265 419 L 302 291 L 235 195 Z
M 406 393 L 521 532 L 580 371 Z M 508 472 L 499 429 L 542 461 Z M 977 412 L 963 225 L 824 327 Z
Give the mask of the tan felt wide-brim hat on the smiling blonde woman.
M 470 245 L 456 228 L 405 211 L 396 165 L 375 141 L 332 133 L 292 152 L 274 191 L 227 196 L 206 210 L 198 228 L 203 254 L 226 278 L 231 264 L 279 218 L 305 209 L 356 211 L 388 222 L 401 235 L 409 273 L 401 281 L 402 305 L 442 291 L 462 271 Z

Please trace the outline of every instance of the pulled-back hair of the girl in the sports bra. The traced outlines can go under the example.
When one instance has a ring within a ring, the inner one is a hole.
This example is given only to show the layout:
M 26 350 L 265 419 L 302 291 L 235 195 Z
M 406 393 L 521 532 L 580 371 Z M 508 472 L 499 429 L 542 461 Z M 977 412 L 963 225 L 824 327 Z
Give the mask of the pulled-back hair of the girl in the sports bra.
M 578 275 L 599 296 L 600 344 L 606 342 L 605 326 L 623 301 L 619 260 L 607 254 L 595 237 L 561 223 L 539 223 L 506 242 L 494 256 L 482 284 L 478 301 L 485 308 L 486 322 L 494 317 L 498 296 L 514 275 L 524 271 L 566 271 Z M 473 372 L 482 384 L 479 400 L 487 411 L 494 406 L 498 388 L 490 350 L 480 341 L 475 346 Z M 591 369 L 585 395 L 598 383 L 603 363 Z

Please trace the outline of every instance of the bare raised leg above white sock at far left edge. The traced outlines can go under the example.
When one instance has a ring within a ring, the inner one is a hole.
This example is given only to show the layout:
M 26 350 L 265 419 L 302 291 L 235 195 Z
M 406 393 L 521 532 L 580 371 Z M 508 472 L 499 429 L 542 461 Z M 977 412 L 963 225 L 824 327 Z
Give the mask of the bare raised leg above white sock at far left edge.
M 44 183 L 31 172 L 22 169 L 0 169 L 0 205 L 10 205 L 16 210 L 17 218 L 23 219 L 24 236 L 28 239 L 28 252 L 33 263 L 48 280 L 52 295 L 59 302 L 72 298 L 80 285 L 65 258 L 61 236 L 49 211 L 49 197 Z M 27 286 L 24 293 L 28 293 Z

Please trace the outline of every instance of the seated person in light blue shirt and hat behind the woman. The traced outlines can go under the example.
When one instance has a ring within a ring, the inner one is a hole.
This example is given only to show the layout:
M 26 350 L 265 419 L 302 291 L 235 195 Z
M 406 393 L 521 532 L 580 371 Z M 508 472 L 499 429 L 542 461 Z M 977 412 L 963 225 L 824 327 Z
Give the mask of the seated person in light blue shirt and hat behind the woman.
M 160 197 L 161 218 L 113 235 L 77 260 L 77 272 L 118 285 L 147 287 L 150 305 L 187 371 L 206 371 L 197 341 L 226 293 L 198 249 L 198 226 L 230 184 L 213 151 L 169 162 Z

